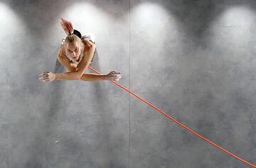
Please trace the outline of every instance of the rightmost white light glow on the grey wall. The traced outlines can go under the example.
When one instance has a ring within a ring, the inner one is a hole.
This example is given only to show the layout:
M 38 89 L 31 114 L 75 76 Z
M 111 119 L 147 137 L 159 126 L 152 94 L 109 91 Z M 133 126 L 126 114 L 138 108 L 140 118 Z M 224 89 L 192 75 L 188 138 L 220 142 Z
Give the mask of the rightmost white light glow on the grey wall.
M 227 50 L 245 52 L 249 45 L 250 28 L 255 12 L 248 6 L 229 6 L 210 25 L 210 43 L 216 47 L 227 46 Z M 226 45 L 223 45 L 226 43 Z

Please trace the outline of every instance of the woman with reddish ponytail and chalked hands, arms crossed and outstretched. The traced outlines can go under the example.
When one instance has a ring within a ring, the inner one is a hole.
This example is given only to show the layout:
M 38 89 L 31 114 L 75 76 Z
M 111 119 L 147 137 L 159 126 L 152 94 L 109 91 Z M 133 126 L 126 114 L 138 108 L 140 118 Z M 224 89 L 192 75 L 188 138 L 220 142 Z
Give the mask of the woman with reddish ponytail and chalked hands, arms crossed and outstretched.
M 108 74 L 83 73 L 95 55 L 95 40 L 92 35 L 82 36 L 78 30 L 73 28 L 72 23 L 61 18 L 60 25 L 67 34 L 58 50 L 57 60 L 68 69 L 68 72 L 54 74 L 43 72 L 39 75 L 40 82 L 52 82 L 57 79 L 78 80 L 93 82 L 99 80 L 118 81 L 121 73 L 111 71 Z M 82 36 L 82 37 L 81 37 Z M 73 63 L 72 63 L 73 62 Z

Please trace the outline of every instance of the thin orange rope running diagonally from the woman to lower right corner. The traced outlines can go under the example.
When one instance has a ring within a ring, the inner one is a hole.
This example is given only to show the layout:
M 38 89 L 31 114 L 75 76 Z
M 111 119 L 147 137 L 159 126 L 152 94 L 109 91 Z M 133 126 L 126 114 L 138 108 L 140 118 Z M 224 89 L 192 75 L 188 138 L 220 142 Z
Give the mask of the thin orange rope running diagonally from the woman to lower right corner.
M 100 74 L 100 72 L 97 72 L 95 69 L 93 69 L 92 67 L 88 66 L 88 68 L 92 69 L 92 71 L 96 72 L 97 74 Z M 161 111 L 159 108 L 157 108 L 156 106 L 152 105 L 151 103 L 145 101 L 144 99 L 140 98 L 139 96 L 137 96 L 136 94 L 134 94 L 132 91 L 129 91 L 129 89 L 126 89 L 124 86 L 118 84 L 117 82 L 111 81 L 112 83 L 116 84 L 117 86 L 121 87 L 122 89 L 128 91 L 130 94 L 136 96 L 139 100 L 143 101 L 144 103 L 148 104 L 149 106 L 155 108 L 157 111 L 159 111 L 161 114 L 163 114 L 164 116 L 166 116 L 167 118 L 171 119 L 172 121 L 174 121 L 175 123 L 177 123 L 178 125 L 181 125 L 183 128 L 185 128 L 186 130 L 190 131 L 191 133 L 193 133 L 194 135 L 198 136 L 199 138 L 202 138 L 203 140 L 205 140 L 206 142 L 210 143 L 211 145 L 218 147 L 220 150 L 223 150 L 224 152 L 228 153 L 228 155 L 231 155 L 233 157 L 235 157 L 236 159 L 239 159 L 242 162 L 245 162 L 246 164 L 249 164 L 251 167 L 255 167 L 255 164 L 252 164 L 250 162 L 247 162 L 244 159 L 241 159 L 240 157 L 234 155 L 233 153 L 229 152 L 228 150 L 225 150 L 223 147 L 220 147 L 219 145 L 216 145 L 215 143 L 211 142 L 210 140 L 204 138 L 202 135 L 199 135 L 198 133 L 196 133 L 195 131 L 191 130 L 190 128 L 186 127 L 185 125 L 183 125 L 182 123 L 179 123 L 178 121 L 174 120 L 174 118 L 171 118 L 171 116 L 169 116 L 168 114 L 164 113 L 164 111 Z

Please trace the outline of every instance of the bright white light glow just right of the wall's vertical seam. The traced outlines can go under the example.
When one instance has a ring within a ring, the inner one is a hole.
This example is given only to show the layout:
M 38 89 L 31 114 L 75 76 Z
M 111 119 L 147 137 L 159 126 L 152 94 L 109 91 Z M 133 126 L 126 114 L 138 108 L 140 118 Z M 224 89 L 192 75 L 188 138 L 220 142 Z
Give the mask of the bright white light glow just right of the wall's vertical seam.
M 142 61 L 145 64 L 164 62 L 164 60 L 161 60 L 164 57 L 159 57 L 161 52 L 165 52 L 166 49 L 172 46 L 181 46 L 181 41 L 178 37 L 180 34 L 178 32 L 178 22 L 164 6 L 157 3 L 144 2 L 130 9 L 130 17 L 132 36 L 135 39 L 141 38 L 138 41 L 138 45 L 154 48 L 148 53 L 145 50 L 146 47 L 142 46 L 144 50 L 139 52 L 144 52 L 141 55 L 145 57 L 137 57 L 139 59 L 137 59 L 137 62 Z M 171 63 L 172 61 L 169 60 L 169 62 Z

